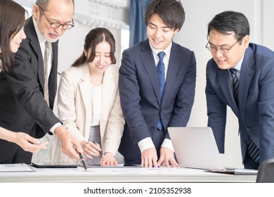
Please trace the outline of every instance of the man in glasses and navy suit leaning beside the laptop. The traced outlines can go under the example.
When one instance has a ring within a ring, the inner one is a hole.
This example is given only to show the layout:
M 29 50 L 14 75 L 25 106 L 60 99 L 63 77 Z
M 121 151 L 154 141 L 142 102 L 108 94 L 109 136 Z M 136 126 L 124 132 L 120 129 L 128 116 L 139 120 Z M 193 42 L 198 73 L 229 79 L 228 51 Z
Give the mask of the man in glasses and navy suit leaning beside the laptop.
M 225 11 L 208 25 L 208 126 L 224 153 L 226 108 L 239 122 L 244 168 L 257 170 L 274 157 L 274 52 L 249 43 L 249 22 L 242 14 Z

